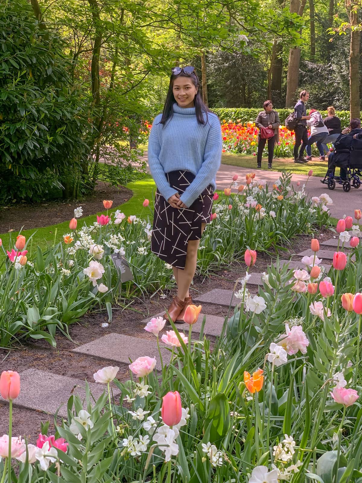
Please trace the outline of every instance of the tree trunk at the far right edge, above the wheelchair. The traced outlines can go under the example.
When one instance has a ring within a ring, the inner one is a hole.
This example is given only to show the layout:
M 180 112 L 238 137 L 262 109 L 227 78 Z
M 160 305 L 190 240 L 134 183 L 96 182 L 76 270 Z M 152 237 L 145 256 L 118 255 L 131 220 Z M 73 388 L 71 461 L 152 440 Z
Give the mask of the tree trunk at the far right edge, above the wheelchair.
M 354 26 L 358 25 L 359 9 L 356 2 L 350 4 L 351 41 L 349 49 L 349 116 L 360 117 L 360 38 L 361 31 Z

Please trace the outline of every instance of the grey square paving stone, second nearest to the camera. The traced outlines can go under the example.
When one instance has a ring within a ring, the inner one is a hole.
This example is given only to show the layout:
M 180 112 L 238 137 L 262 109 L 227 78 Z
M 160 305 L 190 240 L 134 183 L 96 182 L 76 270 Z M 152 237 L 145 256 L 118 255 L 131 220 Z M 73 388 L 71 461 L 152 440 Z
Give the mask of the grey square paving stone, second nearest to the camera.
M 168 364 L 171 353 L 167 350 L 165 344 L 160 344 L 160 347 L 163 361 Z M 147 339 L 140 339 L 138 337 L 131 337 L 113 332 L 100 337 L 95 341 L 76 347 L 72 352 L 93 355 L 99 359 L 113 360 L 122 364 L 130 364 L 129 359 L 134 361 L 138 357 L 148 355 L 149 357 L 156 357 L 158 361 L 158 369 L 161 369 L 156 338 L 152 341 L 148 341 Z

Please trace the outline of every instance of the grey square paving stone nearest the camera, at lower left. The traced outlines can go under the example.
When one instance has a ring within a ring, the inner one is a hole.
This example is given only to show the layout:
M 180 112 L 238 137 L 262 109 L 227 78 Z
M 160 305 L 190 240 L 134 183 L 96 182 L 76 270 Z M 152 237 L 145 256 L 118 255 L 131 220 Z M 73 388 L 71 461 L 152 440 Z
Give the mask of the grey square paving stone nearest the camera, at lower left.
M 104 384 L 88 384 L 95 399 L 98 399 L 106 389 Z M 14 399 L 14 405 L 55 414 L 63 404 L 58 412 L 62 417 L 67 417 L 67 402 L 72 394 L 78 394 L 82 400 L 85 398 L 85 381 L 39 369 L 21 372 L 20 386 L 20 395 Z M 74 389 L 74 386 L 81 387 Z M 119 394 L 120 390 L 113 386 L 113 395 Z

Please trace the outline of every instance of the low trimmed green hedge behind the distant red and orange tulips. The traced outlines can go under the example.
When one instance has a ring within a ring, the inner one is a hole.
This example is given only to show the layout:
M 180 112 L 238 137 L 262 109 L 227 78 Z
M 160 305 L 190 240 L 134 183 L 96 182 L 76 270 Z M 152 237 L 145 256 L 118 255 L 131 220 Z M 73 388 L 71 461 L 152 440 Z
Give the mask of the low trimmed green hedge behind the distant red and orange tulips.
M 222 107 L 212 109 L 212 112 L 217 114 L 221 121 L 235 122 L 235 123 L 247 123 L 248 121 L 255 121 L 256 116 L 262 109 L 252 107 Z M 292 112 L 292 109 L 276 109 L 279 114 L 280 122 L 284 124 L 284 119 Z M 326 117 L 327 111 L 320 111 L 323 117 Z M 349 125 L 349 111 L 336 111 L 336 115 L 341 120 L 342 128 L 346 128 Z M 362 113 L 361 113 L 362 118 Z

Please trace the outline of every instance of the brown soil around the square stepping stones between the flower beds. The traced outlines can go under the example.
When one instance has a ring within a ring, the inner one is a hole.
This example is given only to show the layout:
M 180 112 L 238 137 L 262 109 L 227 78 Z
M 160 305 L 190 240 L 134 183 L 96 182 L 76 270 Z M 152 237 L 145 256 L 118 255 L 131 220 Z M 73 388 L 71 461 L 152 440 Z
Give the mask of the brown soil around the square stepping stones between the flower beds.
M 323 233 L 323 237 L 320 235 L 320 241 L 328 240 L 335 234 L 326 229 L 322 229 L 321 233 Z M 279 257 L 289 258 L 292 254 L 306 250 L 310 247 L 310 239 L 310 236 L 298 236 L 293 240 L 288 252 L 280 253 Z M 271 257 L 267 254 L 258 253 L 255 265 L 248 269 L 248 271 L 250 273 L 265 271 L 267 265 L 275 258 L 276 254 L 273 254 Z M 231 290 L 234 288 L 235 281 L 245 275 L 245 271 L 245 264 L 235 262 L 230 270 L 220 270 L 219 272 L 211 273 L 209 277 L 195 276 L 194 284 L 191 287 L 191 294 L 195 295 L 196 293 L 209 292 L 214 288 Z M 248 288 L 252 294 L 258 293 L 257 286 L 251 285 Z M 77 345 L 93 341 L 111 332 L 152 340 L 154 336 L 143 330 L 145 324 L 142 321 L 151 314 L 162 312 L 175 295 L 176 292 L 173 289 L 167 293 L 167 298 L 165 299 L 134 299 L 133 303 L 127 309 L 124 309 L 121 305 L 115 306 L 113 307 L 112 323 L 106 328 L 102 327 L 102 323 L 108 322 L 106 311 L 100 312 L 98 310 L 89 312 L 78 323 L 70 326 L 71 341 L 61 334 L 56 336 L 56 348 L 51 347 L 45 341 L 34 341 L 28 342 L 25 346 L 10 352 L 0 349 L 0 368 L 2 370 L 11 369 L 18 372 L 36 368 L 81 380 L 86 378 L 88 381 L 93 381 L 94 372 L 101 367 L 114 365 L 114 361 L 106 361 L 104 359 L 97 359 L 97 357 L 76 354 L 71 352 L 71 350 Z M 207 303 L 203 303 L 202 305 L 203 313 L 222 317 L 228 316 L 228 309 L 225 306 Z M 212 340 L 212 338 L 210 339 Z M 129 379 L 127 364 L 117 365 L 120 365 L 118 379 L 122 382 Z M 51 421 L 49 434 L 54 434 L 54 418 L 52 415 L 18 408 L 16 407 L 16 401 L 14 401 L 14 406 L 14 435 L 21 434 L 27 436 L 28 442 L 35 443 L 41 430 L 41 422 L 48 420 Z M 6 403 L 0 401 L 0 435 L 7 432 L 7 420 L 8 406 Z

